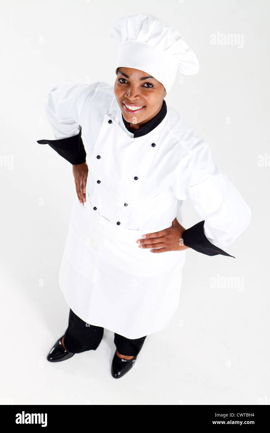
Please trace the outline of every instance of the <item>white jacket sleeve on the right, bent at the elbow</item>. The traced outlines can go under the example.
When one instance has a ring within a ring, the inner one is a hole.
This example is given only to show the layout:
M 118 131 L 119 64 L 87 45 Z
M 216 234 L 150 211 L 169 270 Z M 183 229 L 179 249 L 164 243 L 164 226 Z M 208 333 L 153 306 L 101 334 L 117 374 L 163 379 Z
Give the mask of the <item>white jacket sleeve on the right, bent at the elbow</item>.
M 227 176 L 219 170 L 211 157 L 208 144 L 203 140 L 197 143 L 193 152 L 179 162 L 173 191 L 179 200 L 192 202 L 195 210 L 204 219 L 201 226 L 205 237 L 219 249 L 231 245 L 250 223 L 250 208 Z M 192 235 L 191 229 L 188 229 L 189 232 L 186 230 L 189 240 Z M 183 239 L 184 234 L 185 232 Z M 191 248 L 195 245 L 194 249 L 197 249 L 196 239 L 192 242 Z M 200 246 L 197 251 L 204 252 Z

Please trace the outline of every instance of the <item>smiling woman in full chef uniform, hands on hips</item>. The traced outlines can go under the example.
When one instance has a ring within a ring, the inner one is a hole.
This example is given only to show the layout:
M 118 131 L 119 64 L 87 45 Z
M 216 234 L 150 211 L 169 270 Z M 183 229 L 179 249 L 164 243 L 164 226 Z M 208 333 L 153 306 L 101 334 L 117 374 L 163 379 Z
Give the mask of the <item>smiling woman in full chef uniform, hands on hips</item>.
M 180 33 L 143 13 L 118 19 L 110 35 L 114 87 L 53 87 L 46 115 L 55 140 L 38 143 L 72 164 L 78 196 L 59 275 L 68 328 L 47 359 L 97 349 L 106 328 L 119 378 L 176 312 L 185 249 L 233 257 L 224 249 L 247 228 L 250 209 L 208 144 L 164 100 L 177 71 L 199 68 Z M 189 229 L 176 219 L 183 200 L 203 218 Z

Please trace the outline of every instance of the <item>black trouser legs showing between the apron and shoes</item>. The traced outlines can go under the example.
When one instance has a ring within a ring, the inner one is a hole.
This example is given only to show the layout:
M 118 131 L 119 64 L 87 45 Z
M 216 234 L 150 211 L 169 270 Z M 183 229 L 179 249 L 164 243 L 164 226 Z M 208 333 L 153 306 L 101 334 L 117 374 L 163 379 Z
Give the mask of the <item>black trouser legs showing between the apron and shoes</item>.
M 90 325 L 70 309 L 68 317 L 68 328 L 64 335 L 64 346 L 68 352 L 81 353 L 86 350 L 96 350 L 102 340 L 104 328 Z M 114 344 L 121 355 L 138 355 L 143 346 L 146 336 L 129 339 L 114 333 Z

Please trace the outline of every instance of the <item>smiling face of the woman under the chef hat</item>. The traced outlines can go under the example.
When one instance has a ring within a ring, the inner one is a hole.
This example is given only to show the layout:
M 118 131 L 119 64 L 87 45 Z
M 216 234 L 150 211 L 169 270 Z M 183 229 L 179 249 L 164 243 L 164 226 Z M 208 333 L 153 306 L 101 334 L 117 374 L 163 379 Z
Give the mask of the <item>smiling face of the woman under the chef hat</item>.
M 166 90 L 163 84 L 144 71 L 118 68 L 114 94 L 124 119 L 137 129 L 159 112 Z

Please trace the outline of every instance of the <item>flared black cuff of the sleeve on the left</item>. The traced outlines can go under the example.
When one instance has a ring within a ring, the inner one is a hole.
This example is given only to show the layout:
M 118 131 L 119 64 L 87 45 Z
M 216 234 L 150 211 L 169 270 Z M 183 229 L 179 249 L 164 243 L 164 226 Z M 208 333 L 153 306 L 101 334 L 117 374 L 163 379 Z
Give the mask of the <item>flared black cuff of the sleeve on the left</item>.
M 38 140 L 39 144 L 49 144 L 60 156 L 71 164 L 77 165 L 85 162 L 86 152 L 81 139 L 80 132 L 73 137 L 62 138 L 59 140 Z

